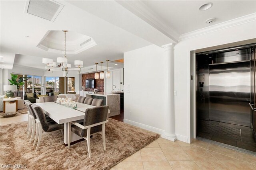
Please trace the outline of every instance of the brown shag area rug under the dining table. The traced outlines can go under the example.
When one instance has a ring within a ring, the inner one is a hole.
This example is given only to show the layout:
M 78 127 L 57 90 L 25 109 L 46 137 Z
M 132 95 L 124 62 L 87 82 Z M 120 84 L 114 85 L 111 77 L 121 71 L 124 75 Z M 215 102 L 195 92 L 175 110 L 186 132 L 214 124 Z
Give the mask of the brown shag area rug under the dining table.
M 108 170 L 159 137 L 126 123 L 108 120 L 106 151 L 101 135 L 95 135 L 90 141 L 91 159 L 86 141 L 68 149 L 60 131 L 43 133 L 40 147 L 35 152 L 36 146 L 33 147 L 26 138 L 27 122 L 0 126 L 0 164 L 26 165 L 29 170 Z

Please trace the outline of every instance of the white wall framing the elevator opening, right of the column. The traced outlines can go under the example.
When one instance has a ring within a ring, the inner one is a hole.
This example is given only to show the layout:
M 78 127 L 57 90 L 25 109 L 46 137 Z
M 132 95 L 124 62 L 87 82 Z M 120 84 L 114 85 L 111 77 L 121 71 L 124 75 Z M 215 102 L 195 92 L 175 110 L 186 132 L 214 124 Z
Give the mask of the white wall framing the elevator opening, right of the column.
M 194 89 L 190 89 L 190 84 L 194 84 L 195 79 L 190 80 L 190 76 L 193 75 L 195 78 L 196 73 L 195 68 L 190 70 L 190 66 L 193 66 L 190 63 L 194 63 L 195 59 L 195 55 L 190 52 L 256 38 L 255 25 L 255 20 L 232 25 L 232 27 L 179 41 L 174 47 L 174 89 L 177 91 L 177 96 L 174 98 L 176 135 L 187 137 L 190 142 L 190 131 L 194 127 L 190 123 L 190 110 L 195 110 L 194 101 L 192 101 L 195 97 Z M 191 93 L 190 90 L 192 90 Z

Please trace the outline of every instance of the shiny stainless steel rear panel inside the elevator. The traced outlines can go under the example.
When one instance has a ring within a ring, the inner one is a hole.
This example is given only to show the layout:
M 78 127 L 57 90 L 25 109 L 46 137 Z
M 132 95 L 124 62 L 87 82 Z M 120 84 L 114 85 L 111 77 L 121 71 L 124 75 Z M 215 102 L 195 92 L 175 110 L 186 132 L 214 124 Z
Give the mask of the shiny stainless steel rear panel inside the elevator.
M 210 120 L 250 127 L 250 61 L 209 64 Z

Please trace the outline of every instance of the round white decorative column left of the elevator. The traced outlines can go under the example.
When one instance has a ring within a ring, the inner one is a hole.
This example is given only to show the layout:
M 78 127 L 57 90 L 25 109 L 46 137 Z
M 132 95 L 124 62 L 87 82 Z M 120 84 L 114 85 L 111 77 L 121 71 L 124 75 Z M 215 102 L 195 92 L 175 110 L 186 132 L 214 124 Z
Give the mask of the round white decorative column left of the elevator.
M 164 48 L 164 74 L 166 77 L 165 132 L 161 137 L 170 141 L 176 140 L 174 131 L 174 43 L 162 46 Z

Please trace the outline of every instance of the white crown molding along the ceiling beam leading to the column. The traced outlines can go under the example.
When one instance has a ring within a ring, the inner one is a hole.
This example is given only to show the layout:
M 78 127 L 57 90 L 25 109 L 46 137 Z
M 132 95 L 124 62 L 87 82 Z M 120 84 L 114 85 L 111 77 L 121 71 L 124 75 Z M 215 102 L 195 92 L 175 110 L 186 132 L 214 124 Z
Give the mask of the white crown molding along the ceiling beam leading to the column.
M 172 39 L 174 42 L 178 42 L 179 34 L 172 28 L 165 24 L 162 18 L 160 18 L 154 11 L 148 8 L 142 1 L 118 1 L 118 4 L 146 21 L 152 27 L 156 28 L 158 31 Z

